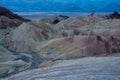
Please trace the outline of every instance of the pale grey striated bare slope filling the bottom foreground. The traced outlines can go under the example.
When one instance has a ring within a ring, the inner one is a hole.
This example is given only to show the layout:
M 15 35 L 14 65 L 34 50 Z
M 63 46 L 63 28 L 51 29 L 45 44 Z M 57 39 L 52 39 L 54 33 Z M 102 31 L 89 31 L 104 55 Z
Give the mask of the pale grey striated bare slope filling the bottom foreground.
M 25 71 L 5 80 L 120 80 L 119 57 L 62 61 L 52 67 Z

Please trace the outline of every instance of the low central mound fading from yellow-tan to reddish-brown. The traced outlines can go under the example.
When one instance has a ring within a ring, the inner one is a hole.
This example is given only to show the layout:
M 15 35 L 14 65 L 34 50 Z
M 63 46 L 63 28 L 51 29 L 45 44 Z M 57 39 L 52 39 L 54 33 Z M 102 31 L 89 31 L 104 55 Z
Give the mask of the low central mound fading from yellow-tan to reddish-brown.
M 97 36 L 73 36 L 39 44 L 36 51 L 40 58 L 46 60 L 65 60 L 106 54 L 107 48 Z

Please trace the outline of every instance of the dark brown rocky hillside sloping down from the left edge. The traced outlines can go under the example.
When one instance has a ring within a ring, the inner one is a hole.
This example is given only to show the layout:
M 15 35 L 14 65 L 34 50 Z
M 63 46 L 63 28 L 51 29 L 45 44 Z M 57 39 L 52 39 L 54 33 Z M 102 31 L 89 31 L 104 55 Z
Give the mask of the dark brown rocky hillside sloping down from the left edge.
M 23 22 L 30 20 L 24 19 L 21 16 L 12 13 L 10 10 L 0 7 L 0 29 L 6 29 L 11 27 L 18 27 Z

